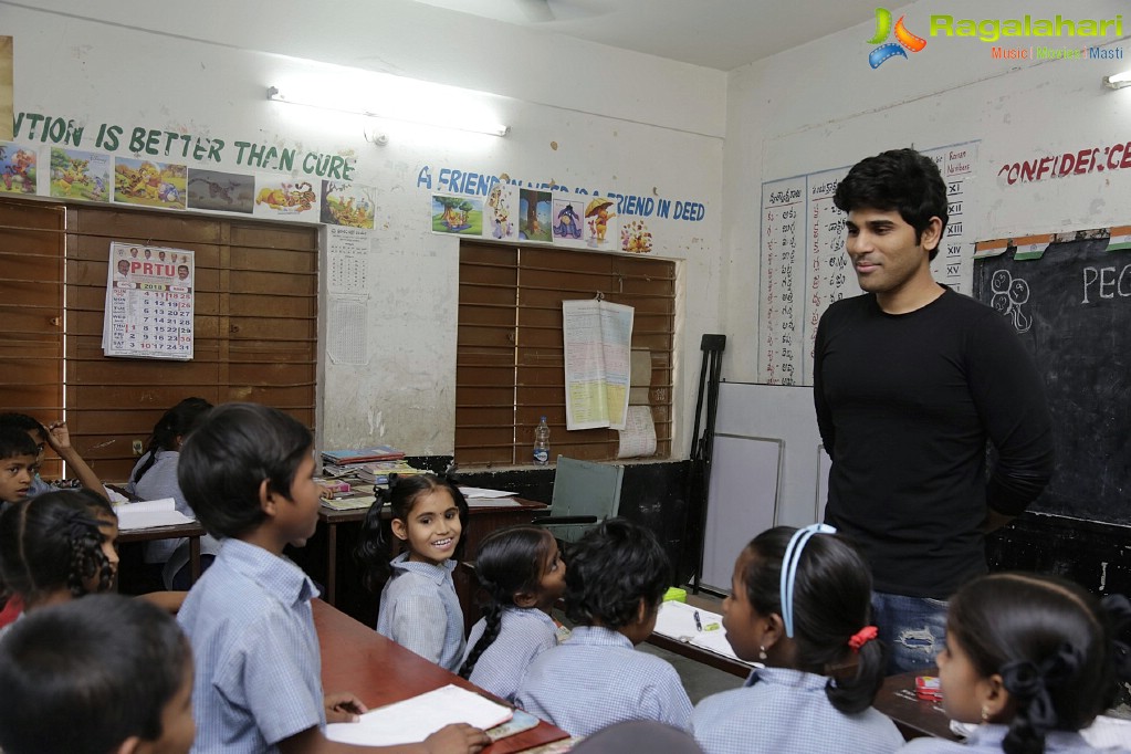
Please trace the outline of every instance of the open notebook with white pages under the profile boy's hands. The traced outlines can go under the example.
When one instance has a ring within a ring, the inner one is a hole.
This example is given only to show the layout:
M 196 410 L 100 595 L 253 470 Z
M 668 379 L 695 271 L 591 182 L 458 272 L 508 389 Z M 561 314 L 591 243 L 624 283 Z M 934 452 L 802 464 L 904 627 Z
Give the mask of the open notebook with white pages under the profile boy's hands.
M 416 744 L 440 728 L 466 722 L 486 730 L 511 718 L 511 709 L 451 684 L 370 710 L 360 722 L 326 726 L 326 737 L 355 746 Z

